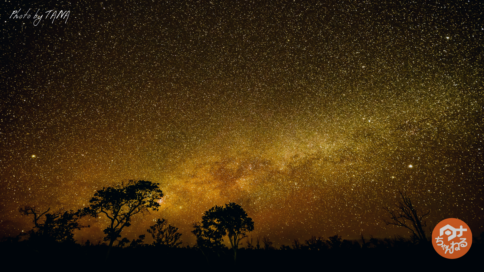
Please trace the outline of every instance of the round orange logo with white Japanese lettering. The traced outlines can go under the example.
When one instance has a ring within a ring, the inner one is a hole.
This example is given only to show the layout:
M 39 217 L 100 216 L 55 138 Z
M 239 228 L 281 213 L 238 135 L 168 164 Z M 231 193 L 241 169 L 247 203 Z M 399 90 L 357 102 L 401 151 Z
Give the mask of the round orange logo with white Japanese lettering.
M 432 245 L 440 256 L 455 259 L 464 256 L 472 244 L 472 233 L 464 221 L 447 218 L 432 232 Z

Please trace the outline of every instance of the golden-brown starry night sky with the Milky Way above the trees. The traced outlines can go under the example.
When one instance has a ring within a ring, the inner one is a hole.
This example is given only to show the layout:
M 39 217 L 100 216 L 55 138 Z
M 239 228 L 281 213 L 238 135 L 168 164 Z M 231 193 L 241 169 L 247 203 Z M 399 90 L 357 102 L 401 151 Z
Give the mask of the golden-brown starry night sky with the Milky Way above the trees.
M 399 190 L 484 231 L 484 5 L 385 2 L 2 2 L 0 235 L 127 180 L 165 194 L 130 239 L 228 202 L 276 245 L 405 236 Z

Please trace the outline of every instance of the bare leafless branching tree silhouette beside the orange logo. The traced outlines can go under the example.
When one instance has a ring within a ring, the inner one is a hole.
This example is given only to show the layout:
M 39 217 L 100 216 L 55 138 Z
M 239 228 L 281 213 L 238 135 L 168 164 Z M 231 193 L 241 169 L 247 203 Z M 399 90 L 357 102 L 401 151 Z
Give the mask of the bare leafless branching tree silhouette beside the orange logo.
M 392 221 L 384 220 L 387 225 L 395 225 L 399 227 L 406 227 L 412 232 L 412 240 L 414 242 L 427 242 L 427 238 L 425 237 L 425 231 L 423 227 L 426 227 L 426 222 L 423 222 L 422 219 L 424 216 L 430 213 L 426 212 L 423 213 L 422 211 L 417 211 L 413 207 L 413 204 L 408 198 L 407 193 L 403 193 L 398 191 L 400 196 L 402 196 L 402 201 L 398 202 L 397 212 L 391 211 L 389 207 L 383 208 L 385 211 L 390 213 L 390 219 Z M 420 214 L 420 215 L 419 215 Z

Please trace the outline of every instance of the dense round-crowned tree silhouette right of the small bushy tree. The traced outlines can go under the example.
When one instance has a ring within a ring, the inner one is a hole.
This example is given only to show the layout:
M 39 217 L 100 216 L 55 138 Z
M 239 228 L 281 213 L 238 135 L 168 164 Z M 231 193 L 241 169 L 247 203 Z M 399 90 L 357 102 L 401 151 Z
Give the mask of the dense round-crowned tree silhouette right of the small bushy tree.
M 237 249 L 240 241 L 247 237 L 246 232 L 254 230 L 254 221 L 238 204 L 230 202 L 223 206 L 215 206 L 206 211 L 202 222 L 194 224 L 193 234 L 197 237 L 200 248 L 222 248 L 222 237 L 228 237 L 234 260 L 237 260 Z M 203 250 L 202 250 L 203 252 Z

